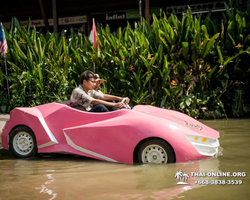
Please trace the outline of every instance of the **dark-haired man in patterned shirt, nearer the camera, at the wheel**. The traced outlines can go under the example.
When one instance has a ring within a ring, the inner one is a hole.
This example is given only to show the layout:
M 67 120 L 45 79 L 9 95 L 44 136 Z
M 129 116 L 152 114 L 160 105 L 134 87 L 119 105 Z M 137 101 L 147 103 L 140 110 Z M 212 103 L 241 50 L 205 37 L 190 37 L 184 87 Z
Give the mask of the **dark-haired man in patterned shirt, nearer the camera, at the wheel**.
M 94 72 L 87 70 L 80 76 L 80 85 L 75 88 L 70 97 L 70 106 L 88 112 L 109 112 L 112 109 L 108 107 L 116 107 L 121 109 L 124 104 L 122 102 L 113 103 L 108 101 L 121 101 L 124 97 L 103 94 L 95 90 L 97 84 L 97 76 Z M 130 99 L 126 98 L 126 103 Z

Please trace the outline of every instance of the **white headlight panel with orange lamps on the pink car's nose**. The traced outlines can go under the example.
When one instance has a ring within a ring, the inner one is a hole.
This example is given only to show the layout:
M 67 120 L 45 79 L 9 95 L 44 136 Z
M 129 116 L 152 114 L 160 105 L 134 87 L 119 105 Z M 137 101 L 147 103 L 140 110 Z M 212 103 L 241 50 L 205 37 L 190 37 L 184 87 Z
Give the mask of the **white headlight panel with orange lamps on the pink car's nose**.
M 196 135 L 187 135 L 186 137 L 201 155 L 214 156 L 218 153 L 220 146 L 218 138 Z

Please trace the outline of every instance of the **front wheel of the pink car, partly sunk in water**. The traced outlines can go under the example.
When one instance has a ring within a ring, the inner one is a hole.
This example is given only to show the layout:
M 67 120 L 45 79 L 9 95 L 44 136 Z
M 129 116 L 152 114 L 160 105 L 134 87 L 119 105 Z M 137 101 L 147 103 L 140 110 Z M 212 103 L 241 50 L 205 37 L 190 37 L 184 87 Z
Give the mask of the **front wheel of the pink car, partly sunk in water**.
M 175 154 L 172 147 L 161 139 L 143 142 L 138 149 L 139 163 L 174 163 Z

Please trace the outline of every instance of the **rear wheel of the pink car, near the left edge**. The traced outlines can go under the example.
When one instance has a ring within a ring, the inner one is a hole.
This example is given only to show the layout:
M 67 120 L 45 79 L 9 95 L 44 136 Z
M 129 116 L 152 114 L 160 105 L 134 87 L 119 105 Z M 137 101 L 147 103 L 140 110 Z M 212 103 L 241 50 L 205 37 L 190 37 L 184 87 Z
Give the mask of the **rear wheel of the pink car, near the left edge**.
M 9 147 L 17 158 L 35 156 L 37 145 L 34 133 L 28 127 L 17 127 L 10 134 Z

